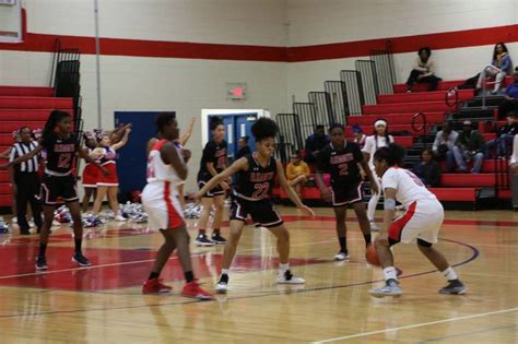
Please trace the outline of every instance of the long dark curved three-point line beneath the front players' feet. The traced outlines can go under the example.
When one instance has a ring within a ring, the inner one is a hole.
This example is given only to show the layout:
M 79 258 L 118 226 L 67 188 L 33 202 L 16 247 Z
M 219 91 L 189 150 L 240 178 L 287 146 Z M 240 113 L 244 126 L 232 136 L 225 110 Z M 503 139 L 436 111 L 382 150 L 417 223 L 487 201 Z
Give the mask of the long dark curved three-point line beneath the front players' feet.
M 450 241 L 455 242 L 464 247 L 468 247 L 472 250 L 473 254 L 468 258 L 464 261 L 461 261 L 459 263 L 454 264 L 452 266 L 460 266 L 463 264 L 467 264 L 473 260 L 475 260 L 480 252 L 479 250 L 469 244 L 460 242 L 460 241 L 455 241 L 455 240 L 449 240 L 449 239 L 440 239 L 439 240 L 445 240 L 445 241 Z M 334 241 L 334 240 L 333 240 Z M 435 273 L 437 270 L 431 270 L 426 272 L 420 272 L 407 276 L 401 276 L 401 278 L 411 278 L 415 276 L 421 276 L 429 273 Z M 362 286 L 362 285 L 368 285 L 373 283 L 378 283 L 382 282 L 384 280 L 375 280 L 375 281 L 366 281 L 366 282 L 357 282 L 357 283 L 352 283 L 352 284 L 344 284 L 344 285 L 333 285 L 330 287 L 315 287 L 315 288 L 304 288 L 304 289 L 296 289 L 296 290 L 290 290 L 286 289 L 284 290 L 284 294 L 291 295 L 291 294 L 303 294 L 303 293 L 313 293 L 313 292 L 323 292 L 323 290 L 330 290 L 330 289 L 337 289 L 337 288 L 348 288 L 348 287 L 354 287 L 354 286 Z M 95 293 L 95 292 L 91 292 Z M 102 293 L 102 294 L 109 294 L 109 295 L 120 295 L 120 294 L 111 294 L 111 293 Z M 125 294 L 127 296 L 128 294 Z M 131 296 L 141 296 L 141 294 L 130 294 Z M 259 297 L 269 297 L 269 296 L 279 296 L 280 293 L 279 290 L 276 292 L 268 292 L 268 293 L 261 293 L 261 294 L 256 294 L 256 295 L 243 295 L 243 296 L 236 296 L 236 297 L 227 297 L 225 301 L 232 301 L 232 300 L 239 300 L 239 299 L 251 299 L 251 298 L 259 298 Z M 151 296 L 151 295 L 150 295 Z M 163 297 L 161 296 L 154 296 L 154 297 Z M 92 308 L 92 309 L 75 309 L 75 310 L 55 310 L 55 311 L 42 311 L 42 312 L 34 312 L 34 313 L 20 313 L 20 315 L 5 315 L 1 316 L 0 319 L 2 318 L 19 318 L 19 317 L 37 317 L 37 316 L 47 316 L 47 315 L 62 315 L 62 313 L 82 313 L 82 312 L 91 312 L 91 311 L 108 311 L 108 310 L 123 310 L 123 309 L 136 309 L 136 308 L 144 308 L 144 307 L 164 307 L 164 306 L 178 306 L 178 305 L 188 305 L 188 304 L 205 304 L 205 303 L 215 303 L 215 301 L 221 301 L 217 298 L 214 300 L 207 300 L 207 301 L 200 301 L 200 300 L 186 300 L 186 301 L 173 301 L 173 303 L 163 303 L 163 304 L 150 304 L 150 305 L 134 305 L 134 306 L 121 306 L 121 307 L 105 307 L 105 308 Z

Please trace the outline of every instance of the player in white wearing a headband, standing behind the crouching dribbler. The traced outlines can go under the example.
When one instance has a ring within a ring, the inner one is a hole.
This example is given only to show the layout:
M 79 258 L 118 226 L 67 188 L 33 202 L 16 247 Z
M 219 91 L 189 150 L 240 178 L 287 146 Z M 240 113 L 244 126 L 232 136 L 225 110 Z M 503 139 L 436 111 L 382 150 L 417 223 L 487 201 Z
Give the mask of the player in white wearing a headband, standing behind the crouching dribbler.
M 365 139 L 365 145 L 362 149 L 365 159 L 368 162 L 368 167 L 370 167 L 373 173 L 375 173 L 373 163 L 374 153 L 381 147 L 388 146 L 390 143 L 393 143 L 393 138 L 388 133 L 387 121 L 378 119 L 374 123 L 374 134 Z M 374 221 L 374 213 L 376 212 L 376 206 L 378 205 L 382 192 L 380 176 L 375 176 L 374 181 L 377 183 L 379 192 L 372 193 L 367 206 L 367 217 L 370 221 L 370 229 L 377 232 L 379 230 L 379 227 Z

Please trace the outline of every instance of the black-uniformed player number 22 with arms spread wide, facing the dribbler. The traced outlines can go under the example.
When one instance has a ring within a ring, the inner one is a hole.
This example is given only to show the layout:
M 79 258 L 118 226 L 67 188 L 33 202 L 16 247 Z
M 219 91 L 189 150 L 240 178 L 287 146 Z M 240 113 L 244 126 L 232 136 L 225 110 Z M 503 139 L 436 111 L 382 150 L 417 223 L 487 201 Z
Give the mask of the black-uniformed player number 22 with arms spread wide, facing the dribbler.
M 268 118 L 260 118 L 251 127 L 251 132 L 256 138 L 257 152 L 237 159 L 231 167 L 207 182 L 195 195 L 195 199 L 199 200 L 222 180 L 227 180 L 232 175 L 239 174 L 238 183 L 232 194 L 231 234 L 223 251 L 222 272 L 216 286 L 219 293 L 226 293 L 228 271 L 248 215 L 256 226 L 268 228 L 278 238 L 280 256 L 278 283 L 305 283 L 303 278 L 294 276 L 290 272 L 290 234 L 283 225 L 281 215 L 270 201 L 275 176 L 298 209 L 307 215 L 314 216 L 315 214 L 301 202 L 296 192 L 286 181 L 281 162 L 273 157 L 274 138 L 278 132 L 275 122 Z

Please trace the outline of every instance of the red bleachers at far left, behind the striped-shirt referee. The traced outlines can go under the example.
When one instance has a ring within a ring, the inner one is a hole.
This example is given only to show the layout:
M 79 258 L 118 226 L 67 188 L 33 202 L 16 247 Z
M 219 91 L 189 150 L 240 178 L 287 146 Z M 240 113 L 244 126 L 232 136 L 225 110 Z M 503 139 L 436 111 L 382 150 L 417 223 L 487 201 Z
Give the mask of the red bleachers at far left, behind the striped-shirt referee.
M 52 109 L 73 114 L 72 98 L 55 98 L 52 94 L 50 87 L 0 86 L 0 152 L 13 144 L 12 132 L 20 127 L 43 128 Z M 0 206 L 11 203 L 9 171 L 0 170 Z

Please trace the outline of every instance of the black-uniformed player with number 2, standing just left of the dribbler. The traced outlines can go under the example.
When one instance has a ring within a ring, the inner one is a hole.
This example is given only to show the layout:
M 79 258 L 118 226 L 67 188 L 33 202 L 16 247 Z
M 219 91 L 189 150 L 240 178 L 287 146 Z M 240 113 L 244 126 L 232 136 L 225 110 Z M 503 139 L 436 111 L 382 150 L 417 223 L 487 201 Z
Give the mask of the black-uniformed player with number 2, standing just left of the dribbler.
M 316 180 L 323 200 L 332 201 L 337 221 L 337 235 L 340 242 L 340 252 L 334 256 L 334 260 L 342 261 L 349 259 L 348 230 L 345 227 L 349 204 L 353 205 L 366 245 L 370 245 L 370 224 L 363 202 L 362 176 L 358 164 L 366 171 L 373 191 L 377 192 L 378 190 L 377 183 L 373 181 L 373 173 L 368 168 L 360 146 L 354 142 L 345 141 L 343 126 L 332 124 L 329 134 L 331 135 L 331 143 L 319 153 Z M 331 175 L 331 190 L 323 183 L 322 174 Z

